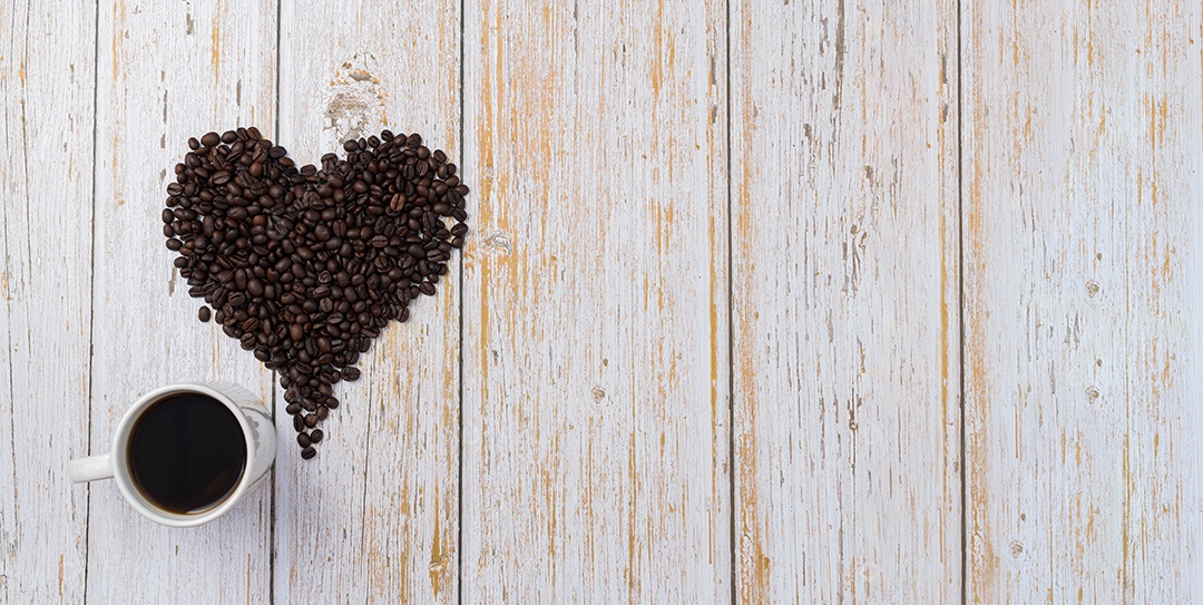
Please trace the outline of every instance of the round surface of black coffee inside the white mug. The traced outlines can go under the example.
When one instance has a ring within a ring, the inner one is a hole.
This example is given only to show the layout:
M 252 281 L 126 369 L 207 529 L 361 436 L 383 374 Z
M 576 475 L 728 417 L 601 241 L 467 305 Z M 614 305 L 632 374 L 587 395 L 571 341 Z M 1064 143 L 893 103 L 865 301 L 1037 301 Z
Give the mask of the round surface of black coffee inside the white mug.
M 238 419 L 201 393 L 165 397 L 130 432 L 134 485 L 156 506 L 186 515 L 224 500 L 242 479 L 247 438 Z

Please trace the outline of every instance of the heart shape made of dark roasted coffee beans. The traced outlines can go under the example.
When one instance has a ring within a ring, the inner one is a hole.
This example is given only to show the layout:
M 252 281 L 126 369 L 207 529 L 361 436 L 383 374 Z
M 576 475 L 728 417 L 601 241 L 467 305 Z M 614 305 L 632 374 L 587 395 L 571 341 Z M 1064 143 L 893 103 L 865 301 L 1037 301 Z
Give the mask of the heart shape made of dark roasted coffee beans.
M 167 185 L 167 248 L 189 295 L 279 373 L 312 458 L 316 426 L 338 408 L 334 384 L 358 379 L 360 354 L 390 320 L 409 319 L 410 301 L 434 295 L 463 245 L 468 186 L 421 136 L 387 130 L 300 170 L 255 127 L 188 146 Z

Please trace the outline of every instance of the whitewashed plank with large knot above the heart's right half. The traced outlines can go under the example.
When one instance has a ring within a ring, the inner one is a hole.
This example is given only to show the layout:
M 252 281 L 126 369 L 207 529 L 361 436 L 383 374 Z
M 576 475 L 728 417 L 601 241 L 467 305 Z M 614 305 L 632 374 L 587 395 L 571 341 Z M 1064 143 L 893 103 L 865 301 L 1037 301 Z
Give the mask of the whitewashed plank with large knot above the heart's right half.
M 282 6 L 280 143 L 316 162 L 346 138 L 419 132 L 460 153 L 460 2 Z M 280 423 L 278 603 L 456 603 L 458 256 L 340 382 L 318 457 Z M 279 399 L 283 401 L 283 393 Z

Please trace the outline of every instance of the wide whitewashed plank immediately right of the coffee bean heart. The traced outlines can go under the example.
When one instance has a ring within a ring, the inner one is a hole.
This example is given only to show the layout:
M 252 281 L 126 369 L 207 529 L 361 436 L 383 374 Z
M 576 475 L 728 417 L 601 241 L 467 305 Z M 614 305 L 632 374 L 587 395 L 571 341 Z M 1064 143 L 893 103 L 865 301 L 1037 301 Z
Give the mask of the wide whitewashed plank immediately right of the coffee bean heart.
M 464 597 L 729 603 L 725 7 L 464 11 Z

